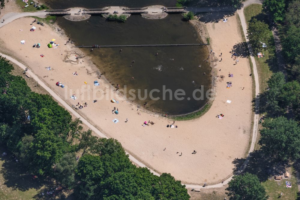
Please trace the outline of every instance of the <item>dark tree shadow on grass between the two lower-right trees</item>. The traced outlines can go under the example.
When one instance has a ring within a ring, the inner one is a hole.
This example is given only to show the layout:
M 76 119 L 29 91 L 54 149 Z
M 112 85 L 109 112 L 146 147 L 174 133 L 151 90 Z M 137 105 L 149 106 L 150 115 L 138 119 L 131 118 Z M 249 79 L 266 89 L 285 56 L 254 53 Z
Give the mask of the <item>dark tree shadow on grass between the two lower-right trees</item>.
M 290 165 L 287 162 L 278 162 L 272 159 L 270 156 L 266 156 L 262 150 L 254 150 L 247 157 L 249 162 L 244 165 L 245 159 L 234 159 L 233 174 L 243 174 L 249 172 L 257 175 L 258 179 L 262 182 L 268 180 L 272 176 L 281 175 L 285 172 Z

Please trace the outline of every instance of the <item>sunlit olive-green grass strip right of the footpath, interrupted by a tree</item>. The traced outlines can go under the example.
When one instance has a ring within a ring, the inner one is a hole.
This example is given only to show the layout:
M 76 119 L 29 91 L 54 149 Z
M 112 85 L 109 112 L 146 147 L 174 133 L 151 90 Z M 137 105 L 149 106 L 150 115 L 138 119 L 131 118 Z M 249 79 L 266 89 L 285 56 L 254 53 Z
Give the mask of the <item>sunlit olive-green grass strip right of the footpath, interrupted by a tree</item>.
M 266 16 L 261 13 L 262 5 L 252 4 L 244 8 L 244 15 L 247 22 L 251 20 L 254 16 L 257 20 L 267 21 Z M 268 47 L 263 48 L 262 53 L 265 54 L 265 57 L 258 58 L 254 56 L 256 67 L 258 71 L 259 79 L 259 90 L 260 92 L 264 91 L 267 86 L 267 80 L 272 75 L 273 72 L 277 71 L 277 61 L 275 56 L 275 44 L 272 31 L 270 30 L 270 39 L 266 43 Z

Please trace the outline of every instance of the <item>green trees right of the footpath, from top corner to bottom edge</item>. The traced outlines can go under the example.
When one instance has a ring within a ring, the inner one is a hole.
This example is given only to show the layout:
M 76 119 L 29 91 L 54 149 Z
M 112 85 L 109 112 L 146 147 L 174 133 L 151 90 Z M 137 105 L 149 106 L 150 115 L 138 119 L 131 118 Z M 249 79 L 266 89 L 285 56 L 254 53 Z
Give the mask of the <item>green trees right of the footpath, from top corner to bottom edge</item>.
M 260 42 L 267 41 L 274 22 L 281 33 L 287 71 L 275 72 L 267 82 L 268 87 L 259 94 L 257 112 L 264 114 L 265 120 L 258 152 L 268 164 L 286 165 L 300 158 L 300 0 L 264 0 L 262 8 L 270 23 L 251 20 L 247 30 L 249 41 L 254 50 L 260 50 Z M 268 199 L 254 174 L 233 176 L 226 190 L 230 200 Z

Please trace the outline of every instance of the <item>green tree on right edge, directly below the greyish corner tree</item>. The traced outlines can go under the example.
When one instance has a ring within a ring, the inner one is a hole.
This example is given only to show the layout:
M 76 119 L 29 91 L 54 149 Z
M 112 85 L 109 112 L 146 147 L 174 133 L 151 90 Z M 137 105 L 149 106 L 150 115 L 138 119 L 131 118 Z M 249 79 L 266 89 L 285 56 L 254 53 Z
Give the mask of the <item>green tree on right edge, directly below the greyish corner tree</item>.
M 288 63 L 293 64 L 300 55 L 300 27 L 292 25 L 286 31 L 282 40 L 282 47 Z

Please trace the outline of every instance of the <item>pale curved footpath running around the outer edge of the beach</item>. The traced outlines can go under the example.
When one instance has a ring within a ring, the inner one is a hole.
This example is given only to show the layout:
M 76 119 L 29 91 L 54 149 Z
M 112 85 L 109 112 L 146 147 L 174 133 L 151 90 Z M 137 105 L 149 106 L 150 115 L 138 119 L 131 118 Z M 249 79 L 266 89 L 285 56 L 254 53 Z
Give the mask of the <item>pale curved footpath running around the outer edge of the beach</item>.
M 259 0 L 248 0 L 246 2 L 244 2 L 244 7 L 246 7 L 247 5 L 250 4 L 260 4 Z M 228 11 L 228 8 L 188 8 L 189 11 L 194 11 L 194 12 L 221 12 L 221 11 Z M 239 15 L 240 19 L 241 19 L 241 25 L 243 28 L 243 32 L 245 35 L 245 38 L 247 38 L 246 33 L 247 33 L 247 25 L 246 25 L 246 20 L 244 17 L 244 8 L 240 9 L 237 11 L 237 14 Z M 41 17 L 44 18 L 45 16 L 45 12 L 44 11 L 38 11 L 35 13 L 8 13 L 5 14 L 0 21 L 3 21 L 3 19 L 5 19 L 5 23 L 1 23 L 0 27 L 2 27 L 3 25 L 12 22 L 13 20 L 16 20 L 18 18 L 21 17 L 27 17 L 27 16 L 36 16 L 36 17 Z M 251 52 L 251 47 L 250 44 L 247 41 L 247 45 L 249 48 L 249 51 Z M 20 68 L 24 69 L 26 68 L 25 65 L 23 65 L 22 63 L 20 63 L 19 61 L 17 61 L 16 59 L 7 56 L 5 54 L 1 55 L 3 57 L 6 57 L 7 59 L 9 59 L 11 62 L 14 62 L 16 65 L 18 65 Z M 257 73 L 257 68 L 256 68 L 256 63 L 254 60 L 253 56 L 250 56 L 250 59 L 252 61 L 253 64 L 253 75 L 254 75 L 254 80 L 255 80 L 255 95 L 257 96 L 259 94 L 259 82 L 258 82 L 258 73 Z M 107 138 L 106 135 L 104 135 L 101 131 L 99 131 L 95 126 L 93 126 L 91 123 L 89 123 L 87 120 L 85 120 L 85 118 L 83 118 L 79 113 L 77 113 L 73 108 L 71 108 L 62 98 L 60 98 L 52 89 L 50 89 L 42 80 L 40 80 L 33 72 L 31 72 L 30 70 L 27 71 L 27 73 L 29 75 L 31 75 L 31 77 L 38 82 L 38 84 L 40 86 L 42 86 L 44 89 L 46 89 L 47 92 L 49 92 L 49 94 L 51 94 L 53 96 L 53 98 L 55 98 L 58 102 L 61 103 L 61 105 L 63 105 L 70 113 L 72 113 L 75 117 L 80 118 L 82 120 L 83 123 L 85 123 L 91 130 L 93 130 L 94 132 L 96 132 L 99 136 Z M 253 122 L 253 135 L 252 135 L 252 142 L 251 142 L 251 146 L 250 146 L 250 150 L 249 153 L 251 153 L 254 150 L 254 146 L 255 146 L 255 142 L 256 142 L 256 137 L 257 137 L 257 132 L 258 132 L 258 120 L 259 120 L 259 115 L 255 114 L 254 116 L 254 122 Z M 126 152 L 127 153 L 127 152 Z M 147 167 L 146 165 L 144 165 L 142 162 L 138 161 L 136 158 L 134 158 L 132 155 L 129 154 L 129 159 L 136 163 L 137 165 L 141 166 L 141 167 Z M 249 157 L 245 160 L 244 162 L 244 167 L 248 164 L 249 162 Z M 147 167 L 148 168 L 148 167 Z M 149 169 L 149 168 L 148 168 Z M 244 168 L 240 168 L 238 173 L 242 172 Z M 155 172 L 153 169 L 149 169 L 153 174 L 155 175 L 160 175 L 157 172 Z M 230 180 L 232 179 L 232 176 L 229 177 L 227 180 L 223 181 L 223 183 L 218 183 L 215 185 L 209 185 L 206 186 L 204 188 L 217 188 L 217 187 L 222 187 L 224 185 L 226 185 Z M 184 184 L 184 183 L 182 183 Z M 184 184 L 186 186 L 186 188 L 199 188 L 202 186 L 200 185 L 196 185 L 196 184 Z

